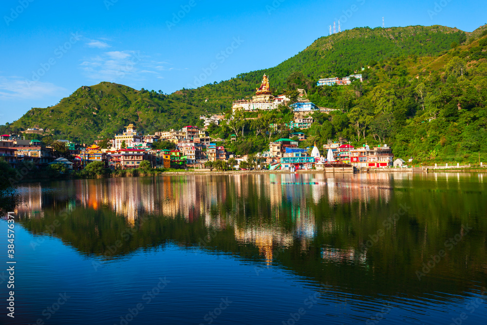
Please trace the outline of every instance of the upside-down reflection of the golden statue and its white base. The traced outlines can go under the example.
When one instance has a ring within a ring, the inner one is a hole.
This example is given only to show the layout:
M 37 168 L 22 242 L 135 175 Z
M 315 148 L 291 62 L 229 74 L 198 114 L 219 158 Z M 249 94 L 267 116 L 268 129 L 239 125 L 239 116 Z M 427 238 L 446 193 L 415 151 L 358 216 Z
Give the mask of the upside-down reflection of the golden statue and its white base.
M 267 264 L 272 262 L 274 249 L 285 249 L 293 244 L 293 236 L 272 226 L 236 227 L 235 239 L 242 244 L 253 244 L 265 257 Z

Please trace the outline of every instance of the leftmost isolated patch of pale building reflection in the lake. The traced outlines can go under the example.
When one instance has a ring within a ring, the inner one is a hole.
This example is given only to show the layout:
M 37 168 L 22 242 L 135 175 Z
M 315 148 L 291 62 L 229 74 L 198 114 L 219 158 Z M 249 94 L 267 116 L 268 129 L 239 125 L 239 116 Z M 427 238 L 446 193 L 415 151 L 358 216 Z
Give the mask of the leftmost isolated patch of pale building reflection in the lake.
M 21 218 L 43 218 L 42 188 L 39 183 L 25 184 L 18 187 L 21 203 L 15 208 L 15 214 Z

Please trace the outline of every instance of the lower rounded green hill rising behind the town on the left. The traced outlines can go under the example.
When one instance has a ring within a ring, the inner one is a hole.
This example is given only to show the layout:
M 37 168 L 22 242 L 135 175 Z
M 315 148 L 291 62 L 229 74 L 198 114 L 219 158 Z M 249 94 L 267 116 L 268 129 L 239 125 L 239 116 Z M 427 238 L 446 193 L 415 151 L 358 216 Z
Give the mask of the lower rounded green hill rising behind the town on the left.
M 129 123 L 136 123 L 146 134 L 181 128 L 205 114 L 201 108 L 142 89 L 102 82 L 83 86 L 71 96 L 48 108 L 33 108 L 10 125 L 19 131 L 38 125 L 50 129 L 56 138 L 92 143 L 112 137 Z

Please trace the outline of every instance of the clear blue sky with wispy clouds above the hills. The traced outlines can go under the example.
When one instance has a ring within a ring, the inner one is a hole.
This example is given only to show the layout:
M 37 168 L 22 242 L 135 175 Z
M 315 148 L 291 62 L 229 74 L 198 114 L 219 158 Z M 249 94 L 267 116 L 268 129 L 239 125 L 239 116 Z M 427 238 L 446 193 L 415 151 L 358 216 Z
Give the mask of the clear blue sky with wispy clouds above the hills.
M 487 22 L 483 0 L 1 2 L 0 124 L 100 81 L 172 93 L 269 68 L 340 18 L 342 30 Z

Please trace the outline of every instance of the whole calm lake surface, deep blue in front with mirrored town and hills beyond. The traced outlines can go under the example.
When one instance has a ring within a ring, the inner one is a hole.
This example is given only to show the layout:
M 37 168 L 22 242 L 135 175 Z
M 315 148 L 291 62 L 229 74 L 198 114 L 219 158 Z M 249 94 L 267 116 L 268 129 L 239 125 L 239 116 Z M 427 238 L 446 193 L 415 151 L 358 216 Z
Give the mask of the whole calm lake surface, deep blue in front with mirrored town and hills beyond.
M 24 184 L 0 323 L 486 324 L 484 176 Z

